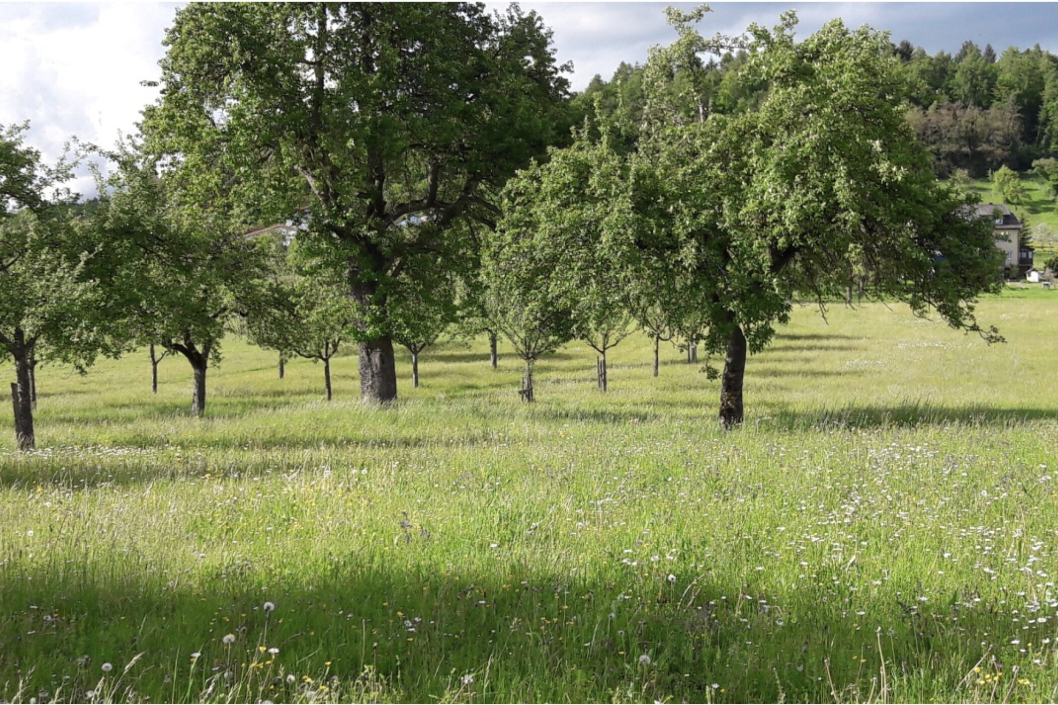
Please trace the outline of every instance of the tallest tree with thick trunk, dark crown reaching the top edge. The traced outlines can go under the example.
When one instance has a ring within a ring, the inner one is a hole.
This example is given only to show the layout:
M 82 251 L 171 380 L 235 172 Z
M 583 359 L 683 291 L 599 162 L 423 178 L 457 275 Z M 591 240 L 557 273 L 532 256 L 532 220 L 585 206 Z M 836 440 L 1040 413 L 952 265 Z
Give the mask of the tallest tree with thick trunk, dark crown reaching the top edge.
M 475 261 L 455 226 L 494 221 L 498 188 L 565 131 L 550 31 L 516 5 L 191 4 L 165 43 L 152 149 L 221 165 L 250 211 L 307 207 L 358 304 L 361 394 L 396 398 L 394 281 L 423 253 Z

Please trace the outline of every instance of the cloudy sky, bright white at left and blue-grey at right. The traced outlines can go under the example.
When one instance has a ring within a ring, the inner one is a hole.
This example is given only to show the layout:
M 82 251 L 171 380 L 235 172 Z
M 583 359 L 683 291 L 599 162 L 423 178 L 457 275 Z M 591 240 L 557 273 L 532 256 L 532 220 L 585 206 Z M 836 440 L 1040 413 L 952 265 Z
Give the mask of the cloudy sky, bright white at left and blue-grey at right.
M 499 7 L 504 3 L 489 3 Z M 609 78 L 621 61 L 641 62 L 653 44 L 674 38 L 665 4 L 523 2 L 554 31 L 560 61 L 571 61 L 574 90 L 595 74 Z M 162 38 L 177 3 L 0 3 L 0 125 L 31 122 L 29 142 L 49 160 L 72 136 L 105 147 L 134 131 L 140 110 L 157 96 L 141 81 L 158 78 Z M 840 17 L 909 39 L 928 52 L 954 53 L 966 39 L 997 53 L 1039 43 L 1058 53 L 1058 3 L 992 2 L 714 2 L 699 27 L 740 34 L 750 22 L 774 24 L 797 10 L 798 35 Z M 87 173 L 74 184 L 93 189 Z

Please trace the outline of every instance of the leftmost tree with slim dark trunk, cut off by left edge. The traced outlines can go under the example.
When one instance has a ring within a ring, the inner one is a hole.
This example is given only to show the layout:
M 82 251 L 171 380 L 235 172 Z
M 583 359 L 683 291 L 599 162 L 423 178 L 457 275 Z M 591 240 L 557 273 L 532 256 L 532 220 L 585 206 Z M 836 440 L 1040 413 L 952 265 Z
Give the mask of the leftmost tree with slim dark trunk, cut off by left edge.
M 93 259 L 109 246 L 75 217 L 76 194 L 61 184 L 71 165 L 43 164 L 24 144 L 28 124 L 0 127 L 0 357 L 15 364 L 15 439 L 36 444 L 33 408 L 39 350 L 78 371 L 116 354 L 110 335 L 113 280 Z

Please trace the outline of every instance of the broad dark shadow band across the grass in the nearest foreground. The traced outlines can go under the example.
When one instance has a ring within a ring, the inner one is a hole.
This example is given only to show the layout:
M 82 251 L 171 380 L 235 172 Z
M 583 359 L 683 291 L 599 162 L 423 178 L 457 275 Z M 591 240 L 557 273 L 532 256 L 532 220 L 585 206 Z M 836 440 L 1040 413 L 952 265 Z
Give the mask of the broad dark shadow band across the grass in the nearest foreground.
M 896 581 L 855 605 L 886 628 L 876 634 L 858 629 L 828 583 L 774 592 L 723 565 L 672 580 L 621 565 L 582 579 L 516 558 L 484 571 L 460 553 L 442 571 L 446 549 L 426 527 L 394 523 L 388 559 L 338 546 L 296 565 L 207 555 L 187 575 L 132 553 L 112 556 L 123 564 L 106 576 L 80 561 L 47 572 L 11 562 L 0 697 L 18 701 L 22 688 L 21 700 L 49 691 L 86 702 L 109 663 L 114 702 L 284 702 L 321 685 L 336 702 L 860 701 L 878 694 L 888 666 L 891 686 L 918 688 L 893 700 L 951 702 L 980 699 L 965 675 L 981 663 L 993 672 L 982 643 L 1009 627 L 987 600 L 901 605 L 897 591 L 917 588 Z M 440 557 L 416 563 L 426 552 Z M 1019 635 L 1036 642 L 1044 631 Z M 998 648 L 1003 670 L 1030 657 Z

